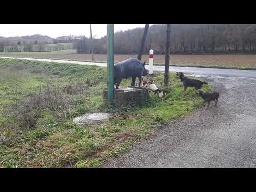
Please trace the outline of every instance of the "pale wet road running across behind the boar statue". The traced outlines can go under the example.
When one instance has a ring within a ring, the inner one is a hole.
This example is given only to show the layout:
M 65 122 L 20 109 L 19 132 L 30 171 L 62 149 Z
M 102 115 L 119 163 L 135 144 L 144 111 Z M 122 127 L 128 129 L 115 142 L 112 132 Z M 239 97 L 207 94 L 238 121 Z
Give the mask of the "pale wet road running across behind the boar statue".
M 13 57 L 0 57 L 0 58 L 12 58 Z M 56 59 L 34 59 L 34 58 L 15 58 L 15 59 L 27 59 L 34 61 L 47 61 L 47 62 L 59 62 L 59 63 L 76 63 L 79 65 L 96 65 L 101 67 L 107 67 L 107 63 L 97 62 L 82 62 L 82 61 L 68 61 L 68 60 L 56 60 Z M 146 66 L 149 69 L 149 66 Z M 164 66 L 154 66 L 154 71 L 164 72 Z M 194 76 L 211 76 L 211 77 L 246 77 L 256 78 L 256 70 L 237 70 L 237 69 L 213 69 L 213 68 L 198 68 L 198 67 L 172 67 L 169 71 L 176 72 L 182 71 L 183 73 Z

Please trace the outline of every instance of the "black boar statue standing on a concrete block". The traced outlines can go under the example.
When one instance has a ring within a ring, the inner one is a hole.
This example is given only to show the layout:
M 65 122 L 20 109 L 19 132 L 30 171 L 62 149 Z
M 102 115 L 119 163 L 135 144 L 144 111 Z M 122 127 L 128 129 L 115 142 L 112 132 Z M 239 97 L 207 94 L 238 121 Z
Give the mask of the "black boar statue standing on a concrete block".
M 142 76 L 148 75 L 148 70 L 145 69 L 145 63 L 142 63 L 140 60 L 135 58 L 126 59 L 124 61 L 118 62 L 114 65 L 115 77 L 114 83 L 116 89 L 118 89 L 119 84 L 122 79 L 132 77 L 131 85 L 135 85 L 136 77 L 139 78 L 139 87 L 141 85 Z

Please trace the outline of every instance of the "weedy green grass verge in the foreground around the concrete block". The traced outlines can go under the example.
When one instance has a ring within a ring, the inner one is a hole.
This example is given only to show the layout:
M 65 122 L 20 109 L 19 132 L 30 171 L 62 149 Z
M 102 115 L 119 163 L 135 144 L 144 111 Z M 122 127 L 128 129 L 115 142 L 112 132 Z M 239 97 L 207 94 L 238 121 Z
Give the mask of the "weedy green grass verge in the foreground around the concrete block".
M 103 67 L 0 59 L 0 74 L 0 167 L 100 167 L 161 124 L 203 106 L 194 89 L 182 92 L 175 74 L 164 100 L 151 93 L 147 103 L 121 109 L 102 105 Z M 163 74 L 155 81 L 163 87 Z M 114 118 L 102 125 L 72 122 L 94 111 Z

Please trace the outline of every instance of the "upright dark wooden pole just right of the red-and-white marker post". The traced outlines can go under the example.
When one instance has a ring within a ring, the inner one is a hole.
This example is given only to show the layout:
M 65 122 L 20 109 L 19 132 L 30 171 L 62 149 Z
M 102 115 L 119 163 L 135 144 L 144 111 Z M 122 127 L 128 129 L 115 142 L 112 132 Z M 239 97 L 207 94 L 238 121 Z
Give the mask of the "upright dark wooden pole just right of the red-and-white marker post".
M 168 86 L 168 84 L 169 84 L 170 44 L 171 44 L 170 33 L 171 33 L 171 24 L 167 24 L 165 67 L 164 67 L 164 86 Z

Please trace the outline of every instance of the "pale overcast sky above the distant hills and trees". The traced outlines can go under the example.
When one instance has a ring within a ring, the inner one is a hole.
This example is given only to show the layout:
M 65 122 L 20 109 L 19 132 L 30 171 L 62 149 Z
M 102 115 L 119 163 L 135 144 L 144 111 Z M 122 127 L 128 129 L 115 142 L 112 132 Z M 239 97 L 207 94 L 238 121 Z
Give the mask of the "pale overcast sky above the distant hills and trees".
M 145 27 L 145 24 L 115 24 L 115 32 Z M 15 37 L 41 34 L 56 38 L 62 35 L 90 36 L 90 24 L 0 24 L 0 36 Z M 92 35 L 96 38 L 107 35 L 107 24 L 92 24 Z

